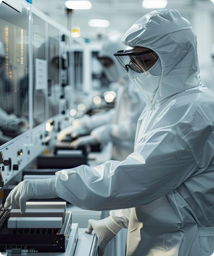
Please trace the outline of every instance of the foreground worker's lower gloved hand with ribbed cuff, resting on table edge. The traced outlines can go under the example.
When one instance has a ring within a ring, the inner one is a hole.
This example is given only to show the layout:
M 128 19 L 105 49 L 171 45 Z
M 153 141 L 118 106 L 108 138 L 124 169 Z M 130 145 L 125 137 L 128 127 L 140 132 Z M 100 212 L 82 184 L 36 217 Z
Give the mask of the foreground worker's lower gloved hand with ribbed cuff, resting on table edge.
M 92 230 L 95 231 L 99 240 L 98 255 L 102 256 L 108 242 L 117 235 L 121 228 L 122 227 L 115 222 L 113 217 L 109 216 L 103 220 L 89 220 L 88 229 L 85 233 L 91 234 Z

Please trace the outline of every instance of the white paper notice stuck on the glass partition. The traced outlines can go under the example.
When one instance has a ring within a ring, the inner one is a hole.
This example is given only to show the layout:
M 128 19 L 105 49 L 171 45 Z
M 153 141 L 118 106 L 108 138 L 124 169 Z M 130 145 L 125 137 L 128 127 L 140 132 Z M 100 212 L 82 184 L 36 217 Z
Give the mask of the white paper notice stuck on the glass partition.
M 36 59 L 36 90 L 48 88 L 48 63 L 43 59 Z

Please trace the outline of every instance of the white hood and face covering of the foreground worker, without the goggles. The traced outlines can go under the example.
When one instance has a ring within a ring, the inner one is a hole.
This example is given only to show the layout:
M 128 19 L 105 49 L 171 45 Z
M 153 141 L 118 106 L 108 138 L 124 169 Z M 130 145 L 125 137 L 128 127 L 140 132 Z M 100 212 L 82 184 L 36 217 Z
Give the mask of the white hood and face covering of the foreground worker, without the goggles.
M 200 84 L 196 35 L 178 11 L 150 12 L 125 33 L 122 43 L 133 48 L 149 48 L 159 56 L 159 63 L 141 74 L 140 83 L 139 78 L 132 79 L 145 92 L 149 109 L 156 109 L 170 96 Z M 147 77 L 154 78 L 152 85 Z

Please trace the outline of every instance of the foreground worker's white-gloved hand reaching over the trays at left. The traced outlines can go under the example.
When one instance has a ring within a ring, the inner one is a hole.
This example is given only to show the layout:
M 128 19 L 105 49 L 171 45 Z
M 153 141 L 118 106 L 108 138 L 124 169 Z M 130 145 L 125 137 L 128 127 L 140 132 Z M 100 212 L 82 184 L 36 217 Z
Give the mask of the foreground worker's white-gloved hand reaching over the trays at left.
M 26 201 L 29 199 L 46 199 L 58 197 L 56 191 L 56 178 L 24 180 L 19 183 L 8 195 L 5 202 L 5 209 L 10 206 L 12 209 L 26 211 Z

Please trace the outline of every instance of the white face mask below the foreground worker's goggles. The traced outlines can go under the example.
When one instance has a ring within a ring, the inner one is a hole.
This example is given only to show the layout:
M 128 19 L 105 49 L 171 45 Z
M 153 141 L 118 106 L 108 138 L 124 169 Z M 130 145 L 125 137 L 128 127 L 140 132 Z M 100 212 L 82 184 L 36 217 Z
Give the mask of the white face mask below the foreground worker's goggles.
M 146 96 L 150 103 L 152 103 L 154 95 L 159 87 L 161 70 L 161 61 L 158 59 L 151 69 L 141 74 L 141 76 L 132 79 L 132 83 Z

